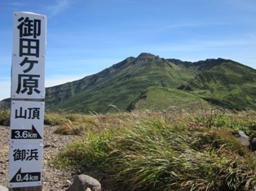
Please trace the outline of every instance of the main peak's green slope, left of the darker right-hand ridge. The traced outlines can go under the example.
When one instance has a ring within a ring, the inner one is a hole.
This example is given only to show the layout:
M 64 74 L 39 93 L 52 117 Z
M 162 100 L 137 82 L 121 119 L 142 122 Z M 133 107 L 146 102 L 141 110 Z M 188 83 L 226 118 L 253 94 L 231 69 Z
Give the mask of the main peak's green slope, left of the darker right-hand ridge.
M 106 112 L 126 108 L 148 87 L 176 88 L 194 73 L 152 54 L 128 58 L 98 74 L 46 89 L 46 108 Z

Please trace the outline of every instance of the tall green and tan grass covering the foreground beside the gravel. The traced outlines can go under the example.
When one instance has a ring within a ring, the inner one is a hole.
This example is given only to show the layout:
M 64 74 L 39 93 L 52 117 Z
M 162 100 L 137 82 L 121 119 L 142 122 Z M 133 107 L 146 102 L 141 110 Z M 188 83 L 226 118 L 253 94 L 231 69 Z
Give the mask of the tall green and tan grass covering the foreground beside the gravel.
M 58 133 L 81 135 L 55 167 L 105 174 L 113 190 L 255 190 L 255 111 L 221 108 L 62 114 Z M 102 180 L 104 182 L 104 180 Z

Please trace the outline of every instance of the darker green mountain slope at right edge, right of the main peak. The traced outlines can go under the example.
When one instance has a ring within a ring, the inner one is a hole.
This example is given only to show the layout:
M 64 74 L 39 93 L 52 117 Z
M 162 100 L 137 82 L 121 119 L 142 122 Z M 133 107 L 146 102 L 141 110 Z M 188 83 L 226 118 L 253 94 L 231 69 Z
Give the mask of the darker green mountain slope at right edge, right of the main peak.
M 231 60 L 202 71 L 185 86 L 219 106 L 256 109 L 256 70 Z

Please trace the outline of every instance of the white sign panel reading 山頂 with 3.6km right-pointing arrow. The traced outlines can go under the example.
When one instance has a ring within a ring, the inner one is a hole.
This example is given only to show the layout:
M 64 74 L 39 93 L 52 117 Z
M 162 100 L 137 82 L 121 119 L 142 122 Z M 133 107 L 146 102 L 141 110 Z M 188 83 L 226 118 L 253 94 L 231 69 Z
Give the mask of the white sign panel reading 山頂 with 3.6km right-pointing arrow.
M 43 136 L 44 102 L 11 102 L 11 143 L 40 144 Z

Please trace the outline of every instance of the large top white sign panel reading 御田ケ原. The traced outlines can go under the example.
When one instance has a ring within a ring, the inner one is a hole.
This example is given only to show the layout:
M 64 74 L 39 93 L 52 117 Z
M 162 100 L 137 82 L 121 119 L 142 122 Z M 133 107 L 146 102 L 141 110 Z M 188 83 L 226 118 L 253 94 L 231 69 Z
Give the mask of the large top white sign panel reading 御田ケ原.
M 46 16 L 15 12 L 11 98 L 45 97 Z

